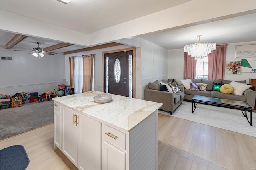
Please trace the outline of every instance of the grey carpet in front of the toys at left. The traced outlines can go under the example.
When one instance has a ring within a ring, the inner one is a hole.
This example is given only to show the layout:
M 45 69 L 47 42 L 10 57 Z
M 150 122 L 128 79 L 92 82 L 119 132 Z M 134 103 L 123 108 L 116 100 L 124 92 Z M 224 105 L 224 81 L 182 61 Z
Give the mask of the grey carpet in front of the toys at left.
M 0 140 L 53 123 L 54 101 L 0 110 Z

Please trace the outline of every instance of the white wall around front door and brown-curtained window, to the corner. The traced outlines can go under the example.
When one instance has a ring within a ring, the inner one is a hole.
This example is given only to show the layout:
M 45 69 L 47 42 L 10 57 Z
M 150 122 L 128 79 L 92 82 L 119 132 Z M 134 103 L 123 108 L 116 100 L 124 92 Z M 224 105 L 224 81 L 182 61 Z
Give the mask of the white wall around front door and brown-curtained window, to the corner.
M 138 38 L 136 38 L 138 42 Z M 130 44 L 134 44 L 131 40 Z M 136 47 L 136 98 L 144 99 L 144 89 L 148 82 L 167 79 L 168 75 L 168 51 L 154 43 L 141 39 L 141 48 Z M 66 79 L 70 82 L 69 58 L 71 56 L 95 55 L 94 68 L 94 90 L 103 91 L 102 52 L 115 49 L 129 48 L 130 46 L 120 45 L 92 51 L 84 51 L 66 55 Z

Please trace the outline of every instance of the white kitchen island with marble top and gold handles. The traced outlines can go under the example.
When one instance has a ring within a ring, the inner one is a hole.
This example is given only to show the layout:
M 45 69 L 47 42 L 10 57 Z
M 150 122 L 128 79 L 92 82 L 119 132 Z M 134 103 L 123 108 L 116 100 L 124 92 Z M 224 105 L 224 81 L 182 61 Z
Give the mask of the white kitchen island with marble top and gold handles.
M 79 169 L 157 169 L 157 110 L 162 103 L 89 91 L 53 98 L 54 144 Z

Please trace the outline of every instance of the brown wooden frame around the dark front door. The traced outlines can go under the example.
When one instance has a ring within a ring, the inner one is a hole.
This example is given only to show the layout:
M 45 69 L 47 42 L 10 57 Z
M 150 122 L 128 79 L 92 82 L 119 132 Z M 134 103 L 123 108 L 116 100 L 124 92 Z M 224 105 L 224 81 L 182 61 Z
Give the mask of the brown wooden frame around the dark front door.
M 130 51 L 130 50 L 133 50 L 133 54 L 132 54 L 132 78 L 133 78 L 133 98 L 135 98 L 135 94 L 136 94 L 136 91 L 135 91 L 135 85 L 136 85 L 136 48 L 135 47 L 131 47 L 131 48 L 124 48 L 124 49 L 116 49 L 116 50 L 112 50 L 112 51 L 103 51 L 102 52 L 102 65 L 103 65 L 103 69 L 102 69 L 102 78 L 103 78 L 103 91 L 105 91 L 105 58 L 104 58 L 104 55 L 105 54 L 108 54 L 108 53 L 116 53 L 116 52 L 121 52 L 121 51 Z

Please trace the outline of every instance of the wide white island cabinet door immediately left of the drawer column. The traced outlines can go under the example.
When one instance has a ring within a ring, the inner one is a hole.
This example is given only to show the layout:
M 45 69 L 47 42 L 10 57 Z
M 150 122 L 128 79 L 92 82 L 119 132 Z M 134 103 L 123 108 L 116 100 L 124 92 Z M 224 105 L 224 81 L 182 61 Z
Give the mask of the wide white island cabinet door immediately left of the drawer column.
M 78 168 L 101 169 L 101 122 L 79 114 Z

